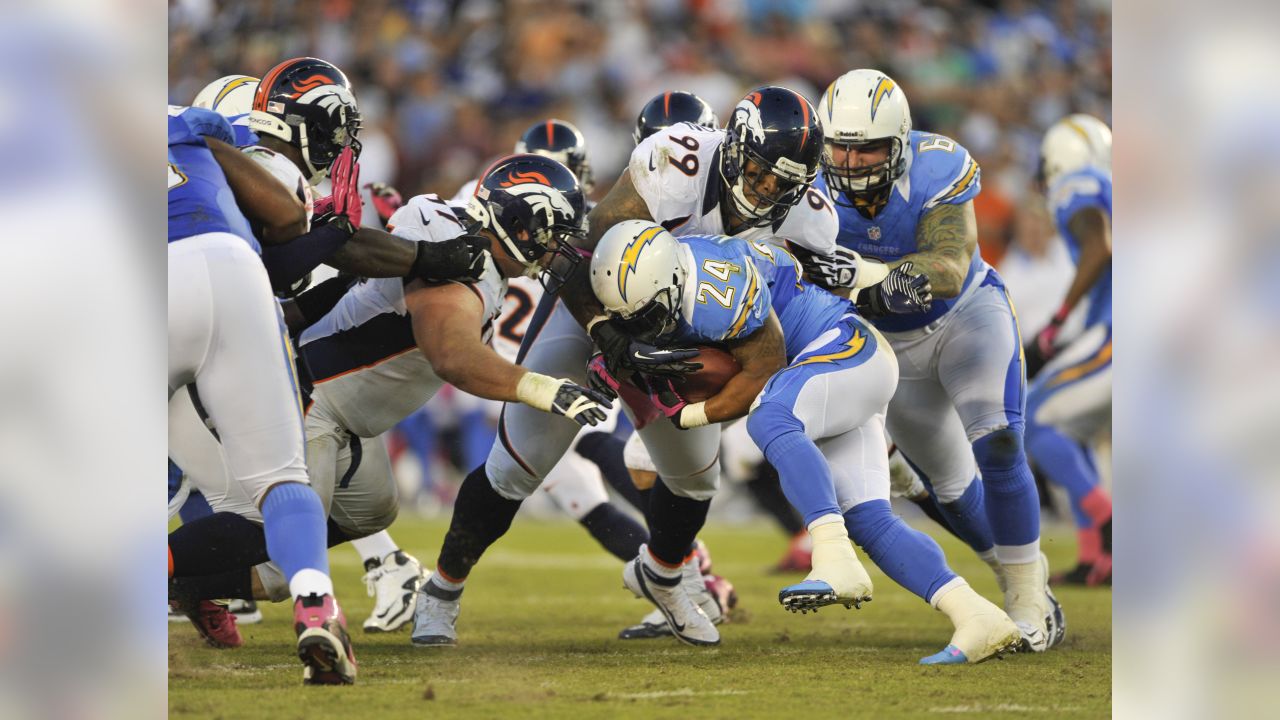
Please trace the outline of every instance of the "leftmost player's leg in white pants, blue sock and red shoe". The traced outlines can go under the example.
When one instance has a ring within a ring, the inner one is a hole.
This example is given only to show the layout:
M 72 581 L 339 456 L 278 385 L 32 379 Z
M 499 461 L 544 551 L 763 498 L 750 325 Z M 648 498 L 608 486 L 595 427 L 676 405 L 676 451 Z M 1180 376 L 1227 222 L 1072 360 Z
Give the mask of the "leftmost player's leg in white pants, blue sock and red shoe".
M 325 512 L 308 484 L 302 407 L 279 306 L 266 270 L 243 242 L 206 247 L 204 255 L 216 342 L 195 384 L 230 474 L 262 514 L 268 553 L 289 578 L 305 682 L 355 682 L 355 655 L 329 578 Z

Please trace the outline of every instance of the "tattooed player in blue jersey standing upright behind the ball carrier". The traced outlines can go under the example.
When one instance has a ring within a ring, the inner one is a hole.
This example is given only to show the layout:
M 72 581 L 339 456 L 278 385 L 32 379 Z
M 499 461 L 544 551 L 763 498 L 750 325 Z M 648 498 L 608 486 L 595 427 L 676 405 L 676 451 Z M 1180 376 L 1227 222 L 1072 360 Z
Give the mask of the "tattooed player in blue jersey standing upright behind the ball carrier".
M 824 145 L 815 186 L 836 201 L 840 245 L 888 266 L 911 263 L 933 287 L 931 311 L 872 320 L 901 369 L 888 433 L 956 532 L 998 562 L 1005 610 L 1025 644 L 1042 652 L 1061 639 L 1060 607 L 1048 591 L 1039 501 L 1023 451 L 1016 318 L 978 252 L 978 164 L 954 140 L 911 129 L 902 88 L 879 70 L 837 78 L 818 117 Z

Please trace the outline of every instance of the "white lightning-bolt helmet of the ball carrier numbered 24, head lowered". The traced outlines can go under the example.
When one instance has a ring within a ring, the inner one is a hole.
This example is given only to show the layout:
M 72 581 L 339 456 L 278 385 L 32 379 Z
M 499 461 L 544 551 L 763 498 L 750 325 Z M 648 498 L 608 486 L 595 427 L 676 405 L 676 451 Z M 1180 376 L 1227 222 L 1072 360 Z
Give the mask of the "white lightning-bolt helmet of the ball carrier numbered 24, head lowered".
M 684 297 L 680 241 L 649 220 L 609 228 L 591 254 L 591 290 L 630 336 L 652 340 L 676 328 Z

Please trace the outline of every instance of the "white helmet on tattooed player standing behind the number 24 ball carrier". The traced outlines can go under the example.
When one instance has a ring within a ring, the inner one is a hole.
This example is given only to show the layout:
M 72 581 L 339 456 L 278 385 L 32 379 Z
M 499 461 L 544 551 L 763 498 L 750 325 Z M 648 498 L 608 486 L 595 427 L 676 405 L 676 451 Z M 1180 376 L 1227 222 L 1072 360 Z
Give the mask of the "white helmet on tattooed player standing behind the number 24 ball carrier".
M 906 149 L 911 142 L 911 108 L 906 94 L 893 78 L 879 70 L 858 69 L 836 78 L 818 102 L 822 123 L 822 169 L 831 196 L 865 196 L 876 193 L 906 172 Z M 833 146 L 859 146 L 890 141 L 883 163 L 852 168 L 836 164 Z

